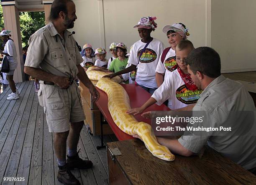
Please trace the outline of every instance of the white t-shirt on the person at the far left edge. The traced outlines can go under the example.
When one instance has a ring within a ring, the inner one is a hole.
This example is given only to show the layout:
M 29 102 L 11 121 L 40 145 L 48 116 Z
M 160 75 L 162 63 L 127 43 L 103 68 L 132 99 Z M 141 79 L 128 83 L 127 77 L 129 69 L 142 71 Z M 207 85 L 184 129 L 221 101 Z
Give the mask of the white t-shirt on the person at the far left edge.
M 10 70 L 16 69 L 18 66 L 17 53 L 16 53 L 15 44 L 12 40 L 8 40 L 6 42 L 3 52 L 8 53 L 10 55 L 10 56 L 7 56 Z M 3 57 L 5 57 L 5 55 Z

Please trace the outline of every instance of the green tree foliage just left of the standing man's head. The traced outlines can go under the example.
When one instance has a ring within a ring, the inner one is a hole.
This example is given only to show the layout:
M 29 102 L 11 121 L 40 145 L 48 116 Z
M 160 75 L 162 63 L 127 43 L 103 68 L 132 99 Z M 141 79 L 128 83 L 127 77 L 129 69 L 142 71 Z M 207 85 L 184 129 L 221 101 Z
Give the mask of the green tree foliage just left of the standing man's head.
M 20 12 L 20 31 L 22 47 L 28 45 L 28 39 L 45 25 L 44 12 Z

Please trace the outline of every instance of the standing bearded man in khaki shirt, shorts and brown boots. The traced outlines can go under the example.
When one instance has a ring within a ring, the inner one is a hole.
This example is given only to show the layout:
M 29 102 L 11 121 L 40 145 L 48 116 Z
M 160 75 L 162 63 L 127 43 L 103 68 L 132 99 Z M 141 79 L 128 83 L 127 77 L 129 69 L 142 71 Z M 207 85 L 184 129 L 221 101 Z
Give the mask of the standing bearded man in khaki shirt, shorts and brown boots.
M 83 59 L 72 33 L 67 30 L 74 27 L 76 19 L 72 0 L 54 0 L 49 17 L 51 22 L 29 39 L 24 67 L 25 73 L 41 80 L 38 101 L 44 106 L 49 132 L 55 133 L 54 150 L 59 165 L 57 178 L 72 185 L 80 183 L 69 169 L 92 167 L 92 162 L 82 160 L 77 152 L 85 117 L 78 86 L 73 83 L 75 77 L 90 89 L 93 101 L 99 98 L 99 93 L 80 66 Z

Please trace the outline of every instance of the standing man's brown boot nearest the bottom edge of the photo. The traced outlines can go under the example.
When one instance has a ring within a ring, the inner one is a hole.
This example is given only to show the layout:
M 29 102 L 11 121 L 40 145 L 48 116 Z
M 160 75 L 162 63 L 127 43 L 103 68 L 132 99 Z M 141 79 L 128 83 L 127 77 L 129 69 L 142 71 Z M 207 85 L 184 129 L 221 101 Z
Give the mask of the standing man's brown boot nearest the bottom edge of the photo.
M 64 185 L 80 185 L 79 180 L 69 171 L 67 165 L 59 166 L 57 179 Z

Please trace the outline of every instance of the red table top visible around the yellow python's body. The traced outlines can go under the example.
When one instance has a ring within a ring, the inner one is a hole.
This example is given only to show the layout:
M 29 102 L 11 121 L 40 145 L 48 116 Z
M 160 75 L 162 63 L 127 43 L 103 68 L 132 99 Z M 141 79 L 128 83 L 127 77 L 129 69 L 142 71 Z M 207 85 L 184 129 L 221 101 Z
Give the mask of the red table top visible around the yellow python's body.
M 121 86 L 123 86 L 123 88 L 125 89 L 125 91 L 127 92 L 128 96 L 130 98 L 131 108 L 140 107 L 151 97 L 151 94 L 149 94 L 147 91 L 145 91 L 143 88 L 141 88 L 140 86 L 138 86 L 136 84 L 121 84 Z M 107 94 L 98 88 L 97 88 L 97 90 L 100 93 L 100 99 L 96 102 L 96 104 L 97 104 L 98 108 L 100 109 L 101 113 L 103 114 L 103 116 L 105 117 L 105 119 L 107 120 L 109 126 L 115 133 L 115 136 L 118 138 L 119 141 L 133 139 L 132 136 L 130 136 L 129 134 L 126 134 L 125 132 L 120 130 L 118 128 L 118 126 L 116 126 L 115 122 L 113 121 L 113 119 L 110 115 L 110 112 L 108 111 L 108 96 L 107 96 Z M 165 106 L 164 104 L 162 104 L 161 106 L 154 104 L 154 105 L 151 105 L 150 107 L 148 107 L 144 112 L 168 111 L 168 110 L 170 110 L 170 109 L 167 106 Z M 138 122 L 146 122 L 151 125 L 151 119 L 143 118 L 141 116 L 141 114 L 136 115 L 134 117 L 138 120 Z

